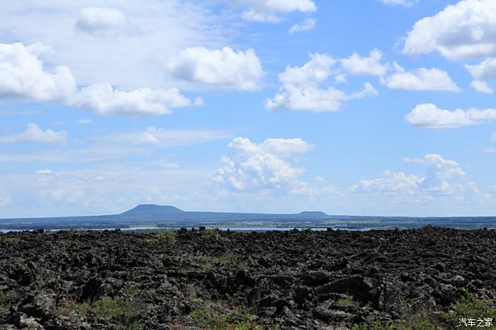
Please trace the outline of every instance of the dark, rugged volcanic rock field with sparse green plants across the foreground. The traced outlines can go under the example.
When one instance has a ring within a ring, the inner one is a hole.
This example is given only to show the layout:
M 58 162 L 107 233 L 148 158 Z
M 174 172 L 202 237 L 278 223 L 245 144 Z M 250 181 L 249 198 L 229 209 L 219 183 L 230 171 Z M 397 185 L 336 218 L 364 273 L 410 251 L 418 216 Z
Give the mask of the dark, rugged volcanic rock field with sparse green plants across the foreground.
M 459 329 L 495 265 L 494 229 L 10 232 L 0 329 Z

